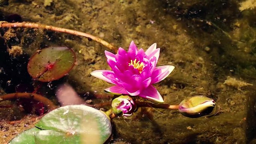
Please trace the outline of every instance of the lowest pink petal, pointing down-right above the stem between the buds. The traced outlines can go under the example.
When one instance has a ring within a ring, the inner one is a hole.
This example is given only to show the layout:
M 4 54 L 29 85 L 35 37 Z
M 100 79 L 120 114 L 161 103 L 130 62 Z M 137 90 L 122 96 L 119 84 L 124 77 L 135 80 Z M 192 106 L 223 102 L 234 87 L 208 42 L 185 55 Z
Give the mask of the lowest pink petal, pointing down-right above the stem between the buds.
M 146 99 L 151 99 L 152 101 L 164 102 L 164 99 L 162 98 L 162 96 L 159 94 L 156 88 L 152 85 L 150 85 L 149 87 L 141 91 L 138 96 Z

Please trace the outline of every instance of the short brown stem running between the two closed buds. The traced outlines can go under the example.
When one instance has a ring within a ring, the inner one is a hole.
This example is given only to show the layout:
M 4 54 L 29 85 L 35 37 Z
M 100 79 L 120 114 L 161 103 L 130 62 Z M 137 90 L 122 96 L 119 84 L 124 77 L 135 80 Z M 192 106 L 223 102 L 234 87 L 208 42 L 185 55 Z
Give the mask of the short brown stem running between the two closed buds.
M 162 108 L 167 110 L 178 110 L 179 105 L 170 105 L 170 104 L 152 104 L 152 103 L 145 103 L 145 102 L 138 102 L 136 101 L 138 107 L 153 107 L 153 108 Z

